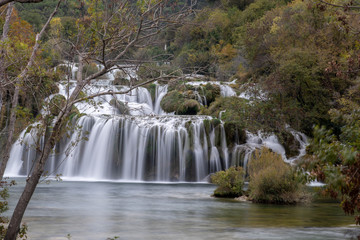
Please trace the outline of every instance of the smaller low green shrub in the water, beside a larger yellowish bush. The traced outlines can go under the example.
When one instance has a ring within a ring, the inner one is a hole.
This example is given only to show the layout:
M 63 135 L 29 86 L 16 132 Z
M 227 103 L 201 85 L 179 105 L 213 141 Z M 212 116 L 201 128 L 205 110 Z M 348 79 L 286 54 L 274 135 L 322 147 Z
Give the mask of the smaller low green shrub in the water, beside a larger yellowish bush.
M 239 197 L 243 194 L 244 170 L 242 167 L 230 167 L 212 175 L 211 182 L 218 186 L 214 191 L 215 197 Z

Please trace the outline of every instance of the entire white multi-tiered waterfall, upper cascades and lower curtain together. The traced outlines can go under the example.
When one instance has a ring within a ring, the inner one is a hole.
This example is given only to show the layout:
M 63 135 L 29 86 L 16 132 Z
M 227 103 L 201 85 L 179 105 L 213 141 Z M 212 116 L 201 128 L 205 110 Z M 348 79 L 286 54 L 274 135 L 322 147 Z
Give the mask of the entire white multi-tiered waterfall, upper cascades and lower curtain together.
M 75 73 L 73 68 L 73 77 Z M 113 85 L 114 73 L 108 75 L 84 89 L 84 94 L 129 89 Z M 59 94 L 67 98 L 74 84 L 75 81 L 60 83 Z M 200 86 L 202 82 L 189 84 Z M 228 84 L 214 84 L 220 85 L 222 96 L 237 96 Z M 78 103 L 76 107 L 86 115 L 74 120 L 73 124 L 79 127 L 64 134 L 67 136 L 56 144 L 46 164 L 48 174 L 90 180 L 203 181 L 230 165 L 246 166 L 254 149 L 261 146 L 287 160 L 276 136 L 247 133 L 245 144 L 235 144 L 230 149 L 222 123 L 213 123 L 208 116 L 166 114 L 160 107 L 166 93 L 167 85 L 156 83 L 153 97 L 147 88 L 139 87 L 127 94 L 96 97 L 93 104 Z M 128 109 L 126 114 L 119 114 L 112 104 L 114 99 Z M 206 99 L 200 99 L 206 104 Z M 31 172 L 38 154 L 36 146 L 42 142 L 35 126 L 24 130 L 13 145 L 7 176 Z M 292 133 L 300 143 L 301 156 L 305 154 L 306 136 Z

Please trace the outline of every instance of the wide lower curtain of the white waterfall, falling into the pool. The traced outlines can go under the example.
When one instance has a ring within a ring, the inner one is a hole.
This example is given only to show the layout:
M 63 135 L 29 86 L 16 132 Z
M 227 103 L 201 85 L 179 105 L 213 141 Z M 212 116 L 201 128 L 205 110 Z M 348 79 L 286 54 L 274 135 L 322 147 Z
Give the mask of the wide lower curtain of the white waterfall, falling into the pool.
M 46 171 L 94 180 L 202 181 L 210 173 L 224 169 L 220 162 L 227 161 L 220 159 L 224 153 L 218 149 L 222 146 L 215 146 L 215 128 L 205 130 L 204 120 L 209 119 L 82 116 L 77 122 L 82 127 L 56 145 Z M 24 142 L 30 138 L 29 134 L 23 136 Z M 13 146 L 8 175 L 31 172 L 37 153 L 30 145 L 35 142 L 27 142 L 26 147 L 20 143 Z

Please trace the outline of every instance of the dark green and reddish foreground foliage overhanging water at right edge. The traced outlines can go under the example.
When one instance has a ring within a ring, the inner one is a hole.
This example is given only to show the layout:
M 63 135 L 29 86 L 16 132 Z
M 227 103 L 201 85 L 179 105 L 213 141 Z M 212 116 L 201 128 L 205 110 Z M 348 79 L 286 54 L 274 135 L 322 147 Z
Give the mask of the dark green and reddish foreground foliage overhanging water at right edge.
M 309 146 L 310 155 L 304 162 L 312 176 L 327 183 L 326 193 L 341 199 L 347 214 L 356 213 L 360 223 L 360 107 L 358 87 L 338 101 L 330 110 L 331 129 L 317 127 Z

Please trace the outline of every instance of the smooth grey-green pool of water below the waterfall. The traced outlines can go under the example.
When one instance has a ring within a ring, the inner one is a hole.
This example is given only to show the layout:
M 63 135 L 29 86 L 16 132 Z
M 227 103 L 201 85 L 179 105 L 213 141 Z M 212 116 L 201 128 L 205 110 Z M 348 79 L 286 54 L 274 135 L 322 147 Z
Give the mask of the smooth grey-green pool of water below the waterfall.
M 10 208 L 23 179 L 10 189 Z M 352 239 L 337 204 L 259 205 L 210 197 L 208 184 L 51 182 L 25 213 L 29 239 Z M 9 212 L 11 212 L 11 210 Z

